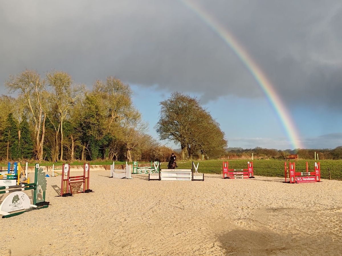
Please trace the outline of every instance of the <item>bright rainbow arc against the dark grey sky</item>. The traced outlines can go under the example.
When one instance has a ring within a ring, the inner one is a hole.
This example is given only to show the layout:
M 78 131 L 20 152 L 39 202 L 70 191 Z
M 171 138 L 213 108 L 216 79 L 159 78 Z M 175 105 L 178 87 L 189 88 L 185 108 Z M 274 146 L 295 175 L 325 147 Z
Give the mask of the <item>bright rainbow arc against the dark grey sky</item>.
M 219 37 L 234 51 L 237 57 L 244 63 L 246 68 L 257 81 L 258 85 L 266 95 L 294 148 L 302 148 L 297 129 L 285 105 L 277 95 L 274 86 L 268 81 L 266 75 L 258 67 L 248 52 L 241 46 L 236 38 L 224 28 L 214 17 L 193 0 L 179 0 L 182 4 L 193 11 L 205 24 L 207 24 Z

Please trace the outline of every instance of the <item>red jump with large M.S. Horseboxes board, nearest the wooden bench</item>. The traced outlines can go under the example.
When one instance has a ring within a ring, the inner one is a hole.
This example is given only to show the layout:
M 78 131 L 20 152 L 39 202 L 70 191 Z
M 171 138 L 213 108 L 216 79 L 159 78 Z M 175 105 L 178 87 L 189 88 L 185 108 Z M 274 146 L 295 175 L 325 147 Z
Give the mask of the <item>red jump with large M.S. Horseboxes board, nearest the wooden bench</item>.
M 287 181 L 287 179 L 290 181 Z M 306 172 L 296 172 L 295 163 L 289 162 L 289 168 L 285 162 L 285 182 L 289 183 L 309 183 L 309 182 L 320 182 L 320 167 L 319 162 L 315 162 L 315 171 L 309 172 L 306 162 Z

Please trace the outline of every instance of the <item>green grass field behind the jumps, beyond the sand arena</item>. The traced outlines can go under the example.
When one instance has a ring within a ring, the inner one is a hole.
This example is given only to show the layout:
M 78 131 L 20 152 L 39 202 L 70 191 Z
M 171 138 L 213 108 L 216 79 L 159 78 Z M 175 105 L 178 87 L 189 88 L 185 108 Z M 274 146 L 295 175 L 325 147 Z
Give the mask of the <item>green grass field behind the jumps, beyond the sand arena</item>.
M 296 171 L 306 170 L 306 161 L 308 162 L 309 171 L 314 171 L 314 160 L 299 160 L 295 162 Z M 205 160 L 205 161 L 194 161 L 196 164 L 199 162 L 198 171 L 202 173 L 222 173 L 222 162 L 223 160 Z M 284 177 L 284 160 L 264 160 L 256 159 L 253 160 L 254 175 L 267 176 L 267 177 Z M 342 160 L 320 160 L 321 178 L 332 180 L 342 180 Z M 94 161 L 90 162 L 90 165 L 111 165 L 111 161 Z M 116 165 L 123 165 L 126 162 L 115 162 Z M 139 165 L 143 162 L 139 162 Z M 41 165 L 44 166 L 61 166 L 62 162 L 44 162 Z M 130 162 L 129 164 L 132 164 Z M 145 162 L 146 164 L 146 162 Z M 161 168 L 167 168 L 167 162 L 161 163 Z M 34 163 L 29 163 L 29 166 L 34 166 Z M 75 161 L 71 165 L 83 165 L 83 162 Z M 191 169 L 192 161 L 177 161 L 178 169 Z M 2 169 L 6 169 L 6 163 L 0 164 Z M 247 160 L 229 160 L 229 169 L 247 169 Z

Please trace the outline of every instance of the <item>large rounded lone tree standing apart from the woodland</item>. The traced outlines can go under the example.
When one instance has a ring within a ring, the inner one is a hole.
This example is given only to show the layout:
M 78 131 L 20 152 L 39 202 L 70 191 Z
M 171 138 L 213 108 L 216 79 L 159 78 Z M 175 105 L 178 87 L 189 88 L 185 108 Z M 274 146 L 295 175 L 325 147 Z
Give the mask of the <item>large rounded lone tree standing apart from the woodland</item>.
M 160 102 L 159 122 L 155 126 L 161 140 L 181 145 L 181 158 L 202 154 L 220 155 L 227 141 L 218 123 L 196 98 L 175 92 Z

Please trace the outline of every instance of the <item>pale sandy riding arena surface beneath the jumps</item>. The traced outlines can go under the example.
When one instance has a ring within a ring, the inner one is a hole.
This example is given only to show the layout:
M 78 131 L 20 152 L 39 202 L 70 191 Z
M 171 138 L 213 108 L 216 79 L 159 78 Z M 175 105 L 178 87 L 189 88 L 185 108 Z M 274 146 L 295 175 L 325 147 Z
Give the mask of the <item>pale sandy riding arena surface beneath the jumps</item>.
M 342 254 L 341 181 L 209 174 L 204 182 L 148 181 L 109 173 L 91 171 L 94 193 L 63 198 L 56 197 L 61 176 L 47 178 L 49 208 L 1 219 L 0 255 Z

